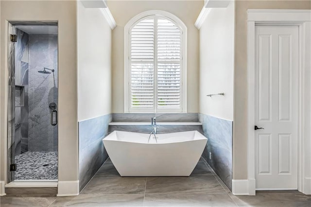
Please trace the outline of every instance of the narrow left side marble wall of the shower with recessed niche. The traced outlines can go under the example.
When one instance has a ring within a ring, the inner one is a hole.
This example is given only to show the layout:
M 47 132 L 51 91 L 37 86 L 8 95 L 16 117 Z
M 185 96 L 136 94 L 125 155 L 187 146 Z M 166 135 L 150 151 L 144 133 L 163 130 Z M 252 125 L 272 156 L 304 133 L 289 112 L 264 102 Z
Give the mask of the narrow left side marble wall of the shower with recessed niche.
M 29 35 L 16 29 L 15 43 L 15 155 L 28 151 Z

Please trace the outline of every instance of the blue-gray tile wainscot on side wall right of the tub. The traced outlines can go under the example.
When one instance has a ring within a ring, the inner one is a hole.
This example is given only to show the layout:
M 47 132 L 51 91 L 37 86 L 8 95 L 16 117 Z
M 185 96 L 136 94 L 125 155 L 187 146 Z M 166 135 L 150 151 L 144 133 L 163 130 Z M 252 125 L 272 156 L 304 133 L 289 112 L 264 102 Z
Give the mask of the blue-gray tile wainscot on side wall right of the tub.
M 232 121 L 199 114 L 203 134 L 208 138 L 203 157 L 222 179 L 225 185 L 232 189 Z M 211 159 L 209 159 L 211 153 Z

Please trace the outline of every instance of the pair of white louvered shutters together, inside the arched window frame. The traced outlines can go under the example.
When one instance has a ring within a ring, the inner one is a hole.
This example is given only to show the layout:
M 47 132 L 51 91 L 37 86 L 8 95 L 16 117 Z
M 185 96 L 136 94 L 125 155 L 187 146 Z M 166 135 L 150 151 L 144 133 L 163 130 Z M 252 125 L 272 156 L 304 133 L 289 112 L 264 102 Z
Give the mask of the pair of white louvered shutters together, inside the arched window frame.
M 130 111 L 181 111 L 181 37 L 179 27 L 157 16 L 130 30 Z

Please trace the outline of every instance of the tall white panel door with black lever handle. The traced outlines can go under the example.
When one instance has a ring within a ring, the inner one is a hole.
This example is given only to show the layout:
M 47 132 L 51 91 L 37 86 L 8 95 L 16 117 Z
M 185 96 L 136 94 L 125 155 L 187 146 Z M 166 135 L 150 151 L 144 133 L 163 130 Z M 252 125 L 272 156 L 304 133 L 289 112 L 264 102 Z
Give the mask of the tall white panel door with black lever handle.
M 255 35 L 256 189 L 297 189 L 298 27 Z

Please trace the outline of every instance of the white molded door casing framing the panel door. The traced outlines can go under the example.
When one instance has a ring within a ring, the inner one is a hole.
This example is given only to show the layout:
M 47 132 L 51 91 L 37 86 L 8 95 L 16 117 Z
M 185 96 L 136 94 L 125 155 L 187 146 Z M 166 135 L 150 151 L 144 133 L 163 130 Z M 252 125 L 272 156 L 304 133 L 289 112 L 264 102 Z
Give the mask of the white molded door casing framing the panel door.
M 247 10 L 248 194 L 255 182 L 255 25 L 298 26 L 298 190 L 311 194 L 311 10 Z

